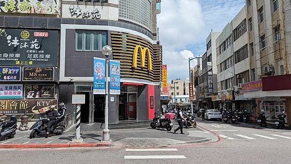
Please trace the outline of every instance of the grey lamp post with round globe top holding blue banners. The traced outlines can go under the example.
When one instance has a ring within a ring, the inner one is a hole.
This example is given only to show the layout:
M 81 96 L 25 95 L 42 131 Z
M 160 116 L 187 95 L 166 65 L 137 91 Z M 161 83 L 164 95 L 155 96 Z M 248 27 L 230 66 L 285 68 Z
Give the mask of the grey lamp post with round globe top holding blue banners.
M 110 131 L 108 129 L 108 57 L 112 55 L 112 48 L 110 46 L 104 46 L 102 48 L 102 54 L 106 57 L 106 84 L 105 84 L 105 129 L 103 130 L 103 141 L 110 141 Z

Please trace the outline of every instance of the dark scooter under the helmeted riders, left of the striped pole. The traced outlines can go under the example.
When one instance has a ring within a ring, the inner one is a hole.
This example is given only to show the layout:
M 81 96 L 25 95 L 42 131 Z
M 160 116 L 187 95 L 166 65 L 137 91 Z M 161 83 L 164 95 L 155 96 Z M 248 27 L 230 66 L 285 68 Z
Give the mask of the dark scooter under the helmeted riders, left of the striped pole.
M 47 120 L 48 118 L 46 117 L 41 117 L 39 115 L 39 120 L 36 121 L 30 130 L 32 130 L 32 132 L 30 133 L 30 138 L 34 138 L 36 135 L 38 136 L 44 136 L 46 135 L 46 126 L 47 126 Z M 57 124 L 55 129 L 51 129 L 51 133 L 54 133 L 56 135 L 62 135 L 63 132 L 65 131 L 65 123 L 64 121 L 60 122 Z

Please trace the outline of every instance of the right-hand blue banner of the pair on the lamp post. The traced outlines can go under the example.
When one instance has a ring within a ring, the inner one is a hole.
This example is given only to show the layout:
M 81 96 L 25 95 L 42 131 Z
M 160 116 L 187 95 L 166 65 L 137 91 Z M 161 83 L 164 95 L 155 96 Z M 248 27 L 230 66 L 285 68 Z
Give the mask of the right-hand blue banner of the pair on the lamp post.
M 120 95 L 120 62 L 110 60 L 110 94 Z

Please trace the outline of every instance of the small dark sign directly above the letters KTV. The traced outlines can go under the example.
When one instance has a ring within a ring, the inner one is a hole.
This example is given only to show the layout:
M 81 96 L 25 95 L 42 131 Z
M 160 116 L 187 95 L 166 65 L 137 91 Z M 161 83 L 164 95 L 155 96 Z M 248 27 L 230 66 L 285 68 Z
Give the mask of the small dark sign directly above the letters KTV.
M 25 84 L 24 98 L 54 98 L 55 84 Z

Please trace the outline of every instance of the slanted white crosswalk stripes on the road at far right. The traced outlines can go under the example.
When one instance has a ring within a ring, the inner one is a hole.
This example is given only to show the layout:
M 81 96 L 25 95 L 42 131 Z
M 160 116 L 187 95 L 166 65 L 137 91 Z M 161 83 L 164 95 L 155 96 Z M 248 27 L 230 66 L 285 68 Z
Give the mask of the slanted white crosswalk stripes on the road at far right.
M 232 136 L 234 135 L 234 136 Z M 277 140 L 277 139 L 291 139 L 291 137 L 287 137 L 284 135 L 278 135 L 278 134 L 270 134 L 271 136 L 266 136 L 266 135 L 260 135 L 260 134 L 251 134 L 251 136 L 246 136 L 246 135 L 242 135 L 242 134 L 230 134 L 228 136 L 224 135 L 224 134 L 219 134 L 219 136 L 221 138 L 227 139 L 227 140 L 235 140 L 235 139 L 240 139 L 240 138 L 244 138 L 244 139 L 249 139 L 249 140 L 257 140 L 257 139 L 270 139 L 270 140 Z M 279 138 L 275 138 L 275 137 L 279 137 Z

